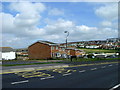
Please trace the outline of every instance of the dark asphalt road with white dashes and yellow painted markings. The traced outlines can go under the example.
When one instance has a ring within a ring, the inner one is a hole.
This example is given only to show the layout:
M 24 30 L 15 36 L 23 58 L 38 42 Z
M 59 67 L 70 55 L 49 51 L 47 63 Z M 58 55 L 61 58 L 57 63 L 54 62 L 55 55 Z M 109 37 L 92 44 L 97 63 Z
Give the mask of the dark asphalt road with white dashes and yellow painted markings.
M 2 75 L 2 88 L 119 88 L 118 63 L 71 66 Z

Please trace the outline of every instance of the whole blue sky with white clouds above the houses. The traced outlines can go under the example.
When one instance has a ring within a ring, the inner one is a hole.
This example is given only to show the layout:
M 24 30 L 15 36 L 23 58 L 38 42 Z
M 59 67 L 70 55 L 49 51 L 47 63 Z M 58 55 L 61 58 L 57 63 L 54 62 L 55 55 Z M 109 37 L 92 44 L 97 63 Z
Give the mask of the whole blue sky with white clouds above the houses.
M 3 2 L 2 46 L 25 48 L 38 40 L 104 40 L 118 37 L 116 2 Z

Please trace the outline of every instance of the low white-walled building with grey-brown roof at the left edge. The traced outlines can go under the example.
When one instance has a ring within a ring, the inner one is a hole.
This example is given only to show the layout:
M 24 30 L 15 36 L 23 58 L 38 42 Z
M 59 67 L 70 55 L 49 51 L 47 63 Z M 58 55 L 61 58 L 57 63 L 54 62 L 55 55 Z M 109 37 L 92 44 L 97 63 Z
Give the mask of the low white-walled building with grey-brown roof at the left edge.
M 11 47 L 0 47 L 2 60 L 13 60 L 16 59 L 15 50 Z

